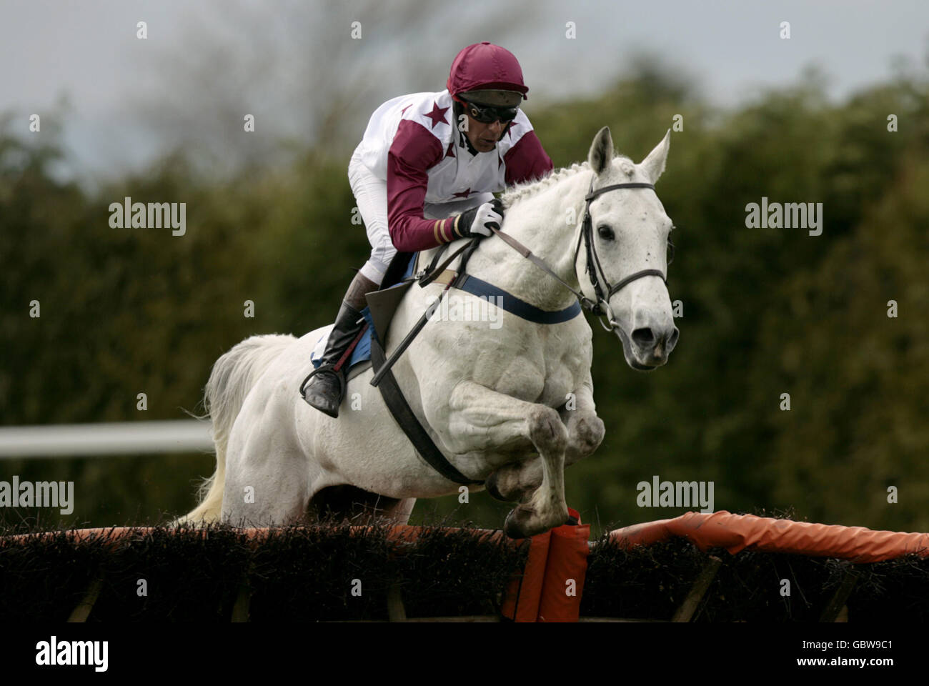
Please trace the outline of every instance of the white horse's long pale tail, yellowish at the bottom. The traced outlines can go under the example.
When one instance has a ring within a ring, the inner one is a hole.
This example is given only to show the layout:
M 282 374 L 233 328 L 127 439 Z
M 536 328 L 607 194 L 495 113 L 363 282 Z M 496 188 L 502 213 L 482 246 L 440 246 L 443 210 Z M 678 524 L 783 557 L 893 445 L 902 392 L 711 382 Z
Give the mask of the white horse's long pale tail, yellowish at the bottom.
M 283 349 L 294 343 L 294 336 L 270 334 L 251 336 L 224 354 L 210 372 L 203 392 L 203 408 L 213 429 L 216 446 L 216 471 L 204 479 L 198 491 L 200 504 L 169 526 L 192 524 L 203 526 L 219 521 L 223 507 L 223 486 L 226 481 L 226 446 L 232 425 L 242 410 L 245 396 L 255 386 L 258 378 L 281 354 Z

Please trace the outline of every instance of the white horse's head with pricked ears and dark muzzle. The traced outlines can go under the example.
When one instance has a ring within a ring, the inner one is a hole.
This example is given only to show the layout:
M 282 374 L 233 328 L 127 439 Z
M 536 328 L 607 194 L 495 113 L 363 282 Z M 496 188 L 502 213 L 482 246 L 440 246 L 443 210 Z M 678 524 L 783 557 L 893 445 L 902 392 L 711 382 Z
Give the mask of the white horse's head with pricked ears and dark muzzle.
M 635 165 L 614 157 L 604 126 L 588 154 L 593 178 L 574 267 L 584 297 L 597 303 L 622 341 L 626 363 L 640 371 L 667 363 L 679 335 L 665 283 L 674 225 L 652 188 L 670 145 L 669 130 Z

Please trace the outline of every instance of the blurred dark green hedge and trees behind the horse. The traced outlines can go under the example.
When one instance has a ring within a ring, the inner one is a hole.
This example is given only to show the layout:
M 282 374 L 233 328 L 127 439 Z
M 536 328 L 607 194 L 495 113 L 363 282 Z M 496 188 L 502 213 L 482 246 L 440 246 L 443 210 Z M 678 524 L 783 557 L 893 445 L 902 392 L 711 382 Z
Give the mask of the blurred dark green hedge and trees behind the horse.
M 838 103 L 823 98 L 821 80 L 810 70 L 720 110 L 686 77 L 642 59 L 598 99 L 528 108 L 556 166 L 584 159 L 603 125 L 618 152 L 641 161 L 674 115 L 684 122 L 658 187 L 677 226 L 669 288 L 684 304 L 671 362 L 636 373 L 591 322 L 607 437 L 569 468 L 567 495 L 595 529 L 685 511 L 636 506 L 636 483 L 659 475 L 714 482 L 716 509 L 929 531 L 929 79 L 898 73 Z M 65 154 L 54 131 L 27 138 L 13 121 L 0 122 L 3 425 L 199 412 L 220 354 L 246 336 L 299 336 L 331 321 L 369 250 L 351 223 L 347 155 L 330 152 L 347 141 L 303 149 L 291 140 L 286 165 L 255 161 L 216 178 L 182 148 L 88 191 L 54 173 Z M 354 141 L 362 130 L 349 132 Z M 111 229 L 108 205 L 125 196 L 186 203 L 186 235 Z M 822 203 L 822 235 L 746 229 L 745 205 L 762 196 Z M 33 299 L 41 318 L 28 316 Z M 243 316 L 245 300 L 254 319 Z M 790 412 L 779 409 L 785 392 Z M 187 511 L 214 460 L 0 467 L 7 480 L 74 481 L 67 523 L 106 525 Z M 508 508 L 485 494 L 468 505 L 451 496 L 420 501 L 413 520 L 496 528 Z

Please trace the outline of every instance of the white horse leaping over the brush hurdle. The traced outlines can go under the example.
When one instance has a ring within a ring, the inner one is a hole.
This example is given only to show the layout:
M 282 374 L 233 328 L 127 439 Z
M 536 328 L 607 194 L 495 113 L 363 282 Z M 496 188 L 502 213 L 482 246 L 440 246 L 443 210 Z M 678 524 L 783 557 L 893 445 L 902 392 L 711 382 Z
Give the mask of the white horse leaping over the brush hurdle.
M 662 278 L 672 222 L 655 191 L 635 184 L 654 184 L 661 176 L 670 135 L 635 165 L 614 158 L 604 127 L 586 163 L 504 193 L 504 231 L 528 245 L 564 284 L 497 236 L 480 242 L 467 272 L 542 310 L 576 302 L 569 287 L 589 298 L 588 305 L 597 302 L 590 257 L 581 245 L 589 210 L 594 273 L 607 289 L 622 284 L 599 295 L 626 363 L 637 370 L 666 363 L 677 340 Z M 611 184 L 624 187 L 585 200 L 592 188 Z M 432 255 L 421 256 L 420 265 Z M 390 325 L 387 356 L 442 289 L 435 283 L 409 288 Z M 446 296 L 478 299 L 456 290 Z M 469 479 L 486 480 L 494 497 L 518 502 L 504 529 L 524 537 L 568 520 L 564 468 L 603 440 L 590 374 L 592 332 L 582 314 L 541 324 L 494 313 L 498 318 L 490 325 L 451 317 L 430 321 L 393 369 L 451 465 Z M 370 385 L 372 370 L 349 380 L 337 419 L 300 398 L 297 387 L 322 333 L 252 336 L 216 361 L 205 389 L 216 473 L 204 482 L 200 505 L 177 522 L 279 525 L 305 521 L 307 512 L 322 508 L 347 513 L 353 502 L 370 508 L 376 499 L 383 514 L 405 523 L 416 498 L 459 492 L 459 484 L 416 454 Z

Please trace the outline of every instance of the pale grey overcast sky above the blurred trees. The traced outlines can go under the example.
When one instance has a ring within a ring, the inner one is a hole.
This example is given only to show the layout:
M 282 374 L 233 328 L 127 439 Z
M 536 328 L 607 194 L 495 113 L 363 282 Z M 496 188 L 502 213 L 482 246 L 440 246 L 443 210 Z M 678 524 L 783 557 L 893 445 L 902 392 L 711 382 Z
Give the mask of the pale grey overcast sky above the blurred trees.
M 830 97 L 842 99 L 886 79 L 895 56 L 921 67 L 929 46 L 926 0 L 409 1 L 421 5 L 398 27 L 360 0 L 338 8 L 294 0 L 0 0 L 0 112 L 45 111 L 66 95 L 72 107 L 62 125 L 72 158 L 112 174 L 174 144 L 177 129 L 190 127 L 178 111 L 198 111 L 201 96 L 232 109 L 248 100 L 245 111 L 260 100 L 273 112 L 261 120 L 273 132 L 312 138 L 312 113 L 304 112 L 311 97 L 301 90 L 349 100 L 334 96 L 331 84 L 316 86 L 323 72 L 359 91 L 346 109 L 355 117 L 349 136 L 360 137 L 381 101 L 442 89 L 455 53 L 480 40 L 517 55 L 530 86 L 527 107 L 595 95 L 643 50 L 684 70 L 724 106 L 791 83 L 810 64 L 829 77 Z M 354 52 L 313 52 L 347 45 L 353 18 L 362 27 Z M 148 23 L 146 41 L 137 39 L 139 20 Z M 779 38 L 781 21 L 791 23 L 790 40 Z M 341 43 L 321 43 L 334 36 Z M 213 66 L 191 68 L 190 56 L 204 54 Z M 350 86 L 360 73 L 372 83 Z M 176 87 L 182 80 L 195 87 Z

